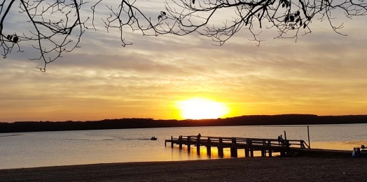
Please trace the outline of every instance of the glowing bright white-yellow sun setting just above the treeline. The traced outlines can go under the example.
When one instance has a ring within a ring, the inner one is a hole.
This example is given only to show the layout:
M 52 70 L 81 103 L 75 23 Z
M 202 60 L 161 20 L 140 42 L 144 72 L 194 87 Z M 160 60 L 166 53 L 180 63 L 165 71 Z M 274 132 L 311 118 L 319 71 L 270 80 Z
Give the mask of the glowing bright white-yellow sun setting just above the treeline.
M 177 105 L 183 119 L 217 119 L 229 112 L 225 104 L 205 98 L 190 98 Z

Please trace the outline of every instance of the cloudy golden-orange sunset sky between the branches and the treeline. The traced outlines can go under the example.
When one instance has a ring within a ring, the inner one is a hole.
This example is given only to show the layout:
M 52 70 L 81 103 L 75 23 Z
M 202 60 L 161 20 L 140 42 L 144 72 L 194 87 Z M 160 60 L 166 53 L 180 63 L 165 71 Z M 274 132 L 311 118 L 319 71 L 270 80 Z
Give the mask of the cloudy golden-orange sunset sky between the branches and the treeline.
M 152 12 L 164 8 L 150 3 Z M 22 15 L 11 17 L 9 27 L 27 29 Z M 125 31 L 133 45 L 123 47 L 118 33 L 99 27 L 46 73 L 36 69 L 43 61 L 29 60 L 34 55 L 25 44 L 25 52 L 0 61 L 0 122 L 186 119 L 180 103 L 193 98 L 225 105 L 223 118 L 367 114 L 366 17 L 344 23 L 347 36 L 314 20 L 312 33 L 297 41 L 273 39 L 270 31 L 259 47 L 245 29 L 221 47 L 197 33 Z

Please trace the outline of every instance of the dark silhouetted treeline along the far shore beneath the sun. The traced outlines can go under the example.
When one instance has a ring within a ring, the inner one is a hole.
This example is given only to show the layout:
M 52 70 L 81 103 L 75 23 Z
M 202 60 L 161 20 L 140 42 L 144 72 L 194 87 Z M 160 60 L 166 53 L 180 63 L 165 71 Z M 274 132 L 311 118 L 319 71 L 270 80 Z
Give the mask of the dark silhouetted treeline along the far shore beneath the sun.
M 312 114 L 252 115 L 226 119 L 154 120 L 104 119 L 102 121 L 18 121 L 0 123 L 0 132 L 61 130 L 106 130 L 124 128 L 166 128 L 190 126 L 263 126 L 367 123 L 367 115 L 317 116 Z

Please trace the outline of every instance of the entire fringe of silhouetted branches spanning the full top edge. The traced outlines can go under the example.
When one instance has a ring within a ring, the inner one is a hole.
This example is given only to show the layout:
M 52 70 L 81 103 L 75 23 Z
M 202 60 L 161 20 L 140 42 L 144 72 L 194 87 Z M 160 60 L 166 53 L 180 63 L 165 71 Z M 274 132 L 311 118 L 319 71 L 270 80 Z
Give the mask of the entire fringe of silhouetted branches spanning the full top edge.
M 0 0 L 1 1 L 1 0 Z M 97 10 L 106 8 L 110 15 L 101 17 L 107 31 L 120 31 L 122 45 L 131 45 L 125 40 L 125 31 L 140 31 L 144 36 L 158 36 L 173 33 L 184 36 L 199 33 L 214 40 L 215 45 L 223 45 L 235 33 L 248 29 L 249 40 L 260 45 L 263 29 L 276 29 L 275 38 L 295 38 L 311 33 L 310 24 L 314 17 L 327 20 L 333 31 L 340 31 L 343 24 L 335 25 L 332 13 L 344 13 L 345 17 L 367 14 L 367 3 L 363 0 L 171 0 L 165 1 L 165 11 L 157 10 L 156 17 L 148 17 L 137 6 L 139 0 L 106 1 L 95 0 L 2 0 L 0 3 L 0 45 L 4 58 L 15 49 L 22 52 L 20 45 L 31 43 L 39 52 L 32 60 L 42 60 L 46 71 L 48 63 L 80 47 L 85 30 L 97 31 L 95 21 Z M 195 2 L 196 1 L 196 2 Z M 102 5 L 103 3 L 106 5 Z M 116 3 L 116 4 L 111 4 Z M 87 6 L 90 5 L 90 6 Z M 81 11 L 87 6 L 88 11 Z M 28 25 L 16 31 L 9 26 L 11 13 L 27 18 Z M 232 14 L 229 14 L 232 13 Z M 86 16 L 82 15 L 87 14 Z M 90 16 L 92 18 L 90 19 Z M 91 28 L 87 26 L 91 23 Z M 31 25 L 30 27 L 28 27 Z

